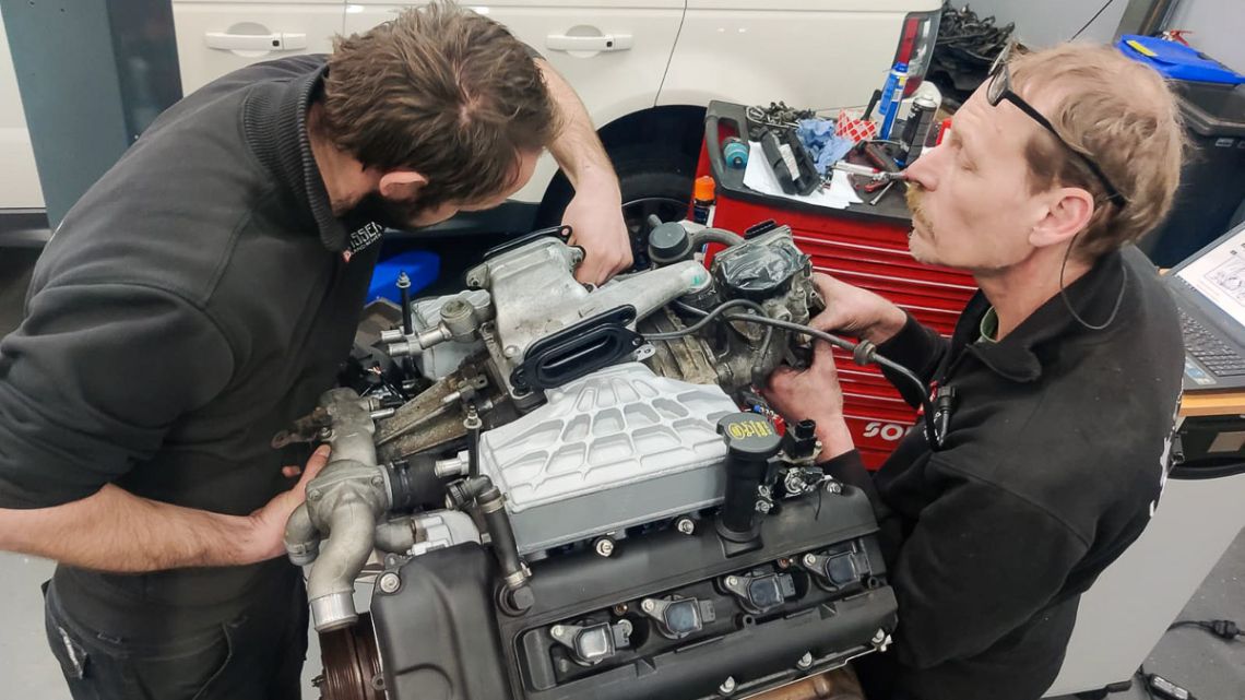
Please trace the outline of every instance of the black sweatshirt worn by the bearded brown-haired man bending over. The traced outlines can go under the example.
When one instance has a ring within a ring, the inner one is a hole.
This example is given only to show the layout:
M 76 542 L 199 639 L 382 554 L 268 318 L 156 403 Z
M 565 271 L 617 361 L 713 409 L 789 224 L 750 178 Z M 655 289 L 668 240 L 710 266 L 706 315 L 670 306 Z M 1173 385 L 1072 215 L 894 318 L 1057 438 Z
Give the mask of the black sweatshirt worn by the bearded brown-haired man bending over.
M 273 61 L 194 92 L 66 215 L 27 318 L 0 343 L 0 507 L 116 483 L 245 516 L 293 486 L 280 470 L 306 455 L 269 441 L 332 386 L 380 248 L 361 248 L 378 227 L 332 217 L 311 156 L 324 65 Z M 218 624 L 248 597 L 293 590 L 298 570 L 283 557 L 55 575 L 80 623 L 128 638 Z

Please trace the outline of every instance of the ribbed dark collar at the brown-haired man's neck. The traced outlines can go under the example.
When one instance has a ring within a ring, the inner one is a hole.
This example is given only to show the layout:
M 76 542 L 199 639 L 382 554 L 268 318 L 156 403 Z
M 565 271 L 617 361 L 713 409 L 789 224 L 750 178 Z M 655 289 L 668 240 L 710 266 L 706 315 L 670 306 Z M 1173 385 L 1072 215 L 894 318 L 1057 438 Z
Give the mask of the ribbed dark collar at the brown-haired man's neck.
M 316 227 L 325 248 L 340 253 L 346 249 L 349 233 L 332 215 L 306 128 L 308 110 L 322 90 L 327 71 L 327 64 L 321 64 L 293 80 L 256 85 L 243 107 L 243 130 L 260 163 L 310 217 L 308 223 Z

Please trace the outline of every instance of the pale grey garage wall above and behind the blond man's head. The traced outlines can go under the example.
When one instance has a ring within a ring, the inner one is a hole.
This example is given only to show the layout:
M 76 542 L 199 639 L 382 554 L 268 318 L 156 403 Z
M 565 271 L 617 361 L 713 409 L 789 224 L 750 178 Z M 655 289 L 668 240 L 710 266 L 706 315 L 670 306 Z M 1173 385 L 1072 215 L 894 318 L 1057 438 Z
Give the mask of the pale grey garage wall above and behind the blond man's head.
M 952 0 L 961 6 L 965 0 Z M 977 15 L 995 15 L 998 24 L 1016 22 L 1017 35 L 1030 46 L 1041 47 L 1067 41 L 1106 0 L 971 0 Z M 1082 40 L 1111 41 L 1128 0 L 1114 0 L 1081 35 Z M 1189 42 L 1238 72 L 1245 73 L 1245 1 L 1179 0 L 1172 26 L 1193 30 Z

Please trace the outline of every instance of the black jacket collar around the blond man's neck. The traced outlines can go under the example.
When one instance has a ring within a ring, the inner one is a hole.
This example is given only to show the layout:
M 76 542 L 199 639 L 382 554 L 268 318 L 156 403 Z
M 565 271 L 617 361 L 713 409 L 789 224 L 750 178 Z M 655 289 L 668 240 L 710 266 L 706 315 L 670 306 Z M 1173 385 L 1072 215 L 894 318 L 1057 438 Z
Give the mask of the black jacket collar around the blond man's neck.
M 1123 258 L 1117 250 L 1099 258 L 1093 268 L 1069 284 L 1064 293 L 1068 303 L 1082 319 L 1099 325 L 1111 316 L 1120 294 L 1129 296 L 1128 290 L 1122 290 L 1122 285 L 1130 284 L 1128 280 L 1129 275 L 1124 272 Z M 957 356 L 960 350 L 966 349 L 995 374 L 1017 382 L 1035 381 L 1042 376 L 1040 351 L 1045 345 L 1082 334 L 1104 334 L 1113 330 L 1108 328 L 1091 331 L 1083 328 L 1068 313 L 1064 300 L 1056 294 L 1002 340 L 976 343 L 981 318 L 989 309 L 990 301 L 981 291 L 977 291 L 956 323 L 955 334 L 951 338 L 951 346 L 955 350 L 952 356 Z M 1117 316 L 1112 323 L 1119 324 L 1122 320 Z

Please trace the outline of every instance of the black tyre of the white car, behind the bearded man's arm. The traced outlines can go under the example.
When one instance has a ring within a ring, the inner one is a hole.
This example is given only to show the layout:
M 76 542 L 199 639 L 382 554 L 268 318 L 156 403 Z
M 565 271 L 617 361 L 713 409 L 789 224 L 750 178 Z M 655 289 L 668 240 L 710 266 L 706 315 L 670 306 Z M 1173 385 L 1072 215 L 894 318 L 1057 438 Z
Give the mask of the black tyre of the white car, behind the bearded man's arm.
M 662 152 L 665 151 L 665 152 Z M 650 214 L 664 222 L 687 215 L 692 196 L 696 158 L 655 147 L 630 147 L 610 153 L 622 192 L 622 219 L 631 233 L 631 254 L 635 268 L 649 267 Z M 558 173 L 549 184 L 537 214 L 537 225 L 557 225 L 570 203 L 574 189 L 565 176 Z

